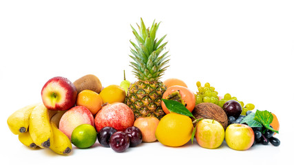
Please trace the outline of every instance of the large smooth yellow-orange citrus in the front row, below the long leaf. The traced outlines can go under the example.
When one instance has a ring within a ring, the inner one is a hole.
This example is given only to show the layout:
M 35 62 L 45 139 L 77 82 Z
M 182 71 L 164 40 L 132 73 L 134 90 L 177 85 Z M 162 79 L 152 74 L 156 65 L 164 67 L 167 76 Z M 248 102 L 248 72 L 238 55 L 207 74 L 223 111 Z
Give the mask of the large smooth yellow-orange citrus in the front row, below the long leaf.
M 187 115 L 169 113 L 165 115 L 156 128 L 157 140 L 166 146 L 182 146 L 189 142 L 193 132 L 191 118 Z

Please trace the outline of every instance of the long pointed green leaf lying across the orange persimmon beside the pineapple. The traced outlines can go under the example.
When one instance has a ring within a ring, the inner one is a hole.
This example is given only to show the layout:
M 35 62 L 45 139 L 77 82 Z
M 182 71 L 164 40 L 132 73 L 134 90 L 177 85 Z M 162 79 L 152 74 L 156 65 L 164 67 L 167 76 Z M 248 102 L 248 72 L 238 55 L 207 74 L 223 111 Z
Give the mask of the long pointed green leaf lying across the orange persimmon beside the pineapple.
M 195 118 L 192 115 L 192 113 L 182 103 L 177 102 L 175 100 L 167 100 L 163 98 L 161 100 L 165 102 L 165 106 L 167 107 L 167 109 L 169 109 L 169 111 Z

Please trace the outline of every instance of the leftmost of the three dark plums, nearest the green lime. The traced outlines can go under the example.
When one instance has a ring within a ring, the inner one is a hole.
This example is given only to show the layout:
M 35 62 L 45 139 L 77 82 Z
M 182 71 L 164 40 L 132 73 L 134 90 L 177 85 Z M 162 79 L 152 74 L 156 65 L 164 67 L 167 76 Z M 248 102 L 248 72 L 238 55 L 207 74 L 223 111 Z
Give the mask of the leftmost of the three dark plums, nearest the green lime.
M 109 146 L 109 140 L 112 134 L 116 132 L 116 129 L 110 127 L 110 126 L 105 126 L 103 127 L 97 134 L 97 139 L 98 142 L 105 147 L 110 147 Z

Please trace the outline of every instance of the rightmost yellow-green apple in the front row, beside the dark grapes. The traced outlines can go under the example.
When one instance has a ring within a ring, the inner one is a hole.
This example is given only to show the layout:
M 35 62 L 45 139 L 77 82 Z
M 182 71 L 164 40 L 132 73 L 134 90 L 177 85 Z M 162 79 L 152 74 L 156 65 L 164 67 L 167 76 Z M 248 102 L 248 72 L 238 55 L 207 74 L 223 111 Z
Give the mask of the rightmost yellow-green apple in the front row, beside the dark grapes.
M 246 150 L 254 142 L 254 132 L 246 124 L 230 124 L 225 133 L 228 146 L 234 150 Z

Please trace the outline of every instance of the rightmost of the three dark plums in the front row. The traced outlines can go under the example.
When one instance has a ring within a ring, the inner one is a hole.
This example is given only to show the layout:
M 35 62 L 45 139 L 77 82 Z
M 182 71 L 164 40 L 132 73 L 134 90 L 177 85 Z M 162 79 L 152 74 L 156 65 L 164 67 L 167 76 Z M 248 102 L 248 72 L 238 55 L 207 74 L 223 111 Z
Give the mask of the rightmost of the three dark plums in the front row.
M 129 136 L 129 146 L 134 147 L 138 146 L 142 142 L 142 132 L 136 126 L 130 126 L 129 128 L 125 129 L 125 133 Z

